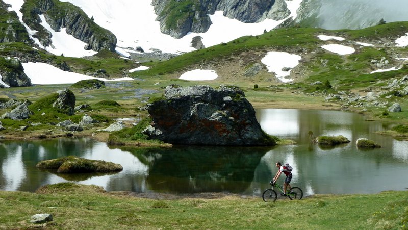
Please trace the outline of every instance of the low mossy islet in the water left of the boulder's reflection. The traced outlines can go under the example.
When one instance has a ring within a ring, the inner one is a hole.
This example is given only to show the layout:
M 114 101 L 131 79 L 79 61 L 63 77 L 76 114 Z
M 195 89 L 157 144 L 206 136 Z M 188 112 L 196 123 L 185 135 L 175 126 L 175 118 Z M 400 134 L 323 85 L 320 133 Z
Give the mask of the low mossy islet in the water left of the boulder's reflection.
M 41 161 L 36 167 L 57 169 L 58 173 L 116 172 L 123 170 L 121 165 L 112 162 L 88 160 L 73 156 Z

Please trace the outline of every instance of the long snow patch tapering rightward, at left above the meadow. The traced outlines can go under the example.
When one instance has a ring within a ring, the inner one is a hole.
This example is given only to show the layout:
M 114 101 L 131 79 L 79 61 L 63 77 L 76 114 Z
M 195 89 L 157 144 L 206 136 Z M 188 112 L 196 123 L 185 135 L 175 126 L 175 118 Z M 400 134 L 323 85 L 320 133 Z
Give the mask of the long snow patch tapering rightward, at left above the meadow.
M 24 67 L 24 73 L 31 79 L 31 83 L 35 85 L 52 85 L 52 84 L 72 84 L 86 79 L 99 79 L 102 81 L 129 81 L 133 78 L 120 78 L 120 79 L 104 79 L 93 78 L 79 73 L 63 71 L 57 67 L 46 63 L 22 63 Z

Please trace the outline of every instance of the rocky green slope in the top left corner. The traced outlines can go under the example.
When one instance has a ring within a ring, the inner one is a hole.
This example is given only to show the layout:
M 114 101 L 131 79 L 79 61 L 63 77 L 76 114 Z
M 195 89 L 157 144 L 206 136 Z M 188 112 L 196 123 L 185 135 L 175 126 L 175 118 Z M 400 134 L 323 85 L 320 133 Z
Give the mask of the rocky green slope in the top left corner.
M 9 12 L 10 5 L 0 0 L 0 43 L 30 42 L 29 34 L 18 20 L 17 14 Z

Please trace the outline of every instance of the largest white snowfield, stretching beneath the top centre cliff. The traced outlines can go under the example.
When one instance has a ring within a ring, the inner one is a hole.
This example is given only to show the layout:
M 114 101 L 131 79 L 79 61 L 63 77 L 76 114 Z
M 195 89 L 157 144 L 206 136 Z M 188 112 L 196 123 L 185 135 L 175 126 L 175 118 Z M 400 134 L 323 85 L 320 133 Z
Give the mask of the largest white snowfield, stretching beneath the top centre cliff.
M 9 0 L 10 1 L 10 0 Z M 182 53 L 195 50 L 190 47 L 193 37 L 201 36 L 206 47 L 228 42 L 246 35 L 262 34 L 271 30 L 281 21 L 266 19 L 259 23 L 243 23 L 224 17 L 222 12 L 209 15 L 212 21 L 206 33 L 189 33 L 181 39 L 162 34 L 151 0 L 61 0 L 79 6 L 88 17 L 94 18 L 101 27 L 116 35 L 119 47 L 141 46 L 146 52 L 157 48 L 165 53 Z M 301 0 L 286 1 L 291 11 L 289 17 L 296 17 Z

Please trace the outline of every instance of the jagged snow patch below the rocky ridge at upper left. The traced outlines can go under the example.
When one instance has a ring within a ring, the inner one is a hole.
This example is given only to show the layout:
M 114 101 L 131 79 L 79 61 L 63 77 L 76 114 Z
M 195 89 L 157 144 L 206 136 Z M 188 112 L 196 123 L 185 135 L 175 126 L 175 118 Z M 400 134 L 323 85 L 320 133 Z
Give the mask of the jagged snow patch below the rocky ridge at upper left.
M 66 57 L 81 58 L 84 56 L 92 56 L 97 52 L 93 50 L 85 50 L 84 47 L 87 45 L 85 42 L 74 38 L 72 35 L 65 32 L 66 28 L 61 28 L 60 32 L 55 32 L 51 26 L 46 22 L 44 15 L 40 15 L 42 22 L 40 24 L 47 29 L 53 37 L 51 38 L 52 47 L 47 46 L 45 50 L 49 53 L 55 55 L 64 54 Z

